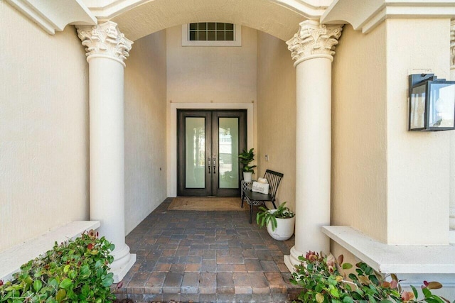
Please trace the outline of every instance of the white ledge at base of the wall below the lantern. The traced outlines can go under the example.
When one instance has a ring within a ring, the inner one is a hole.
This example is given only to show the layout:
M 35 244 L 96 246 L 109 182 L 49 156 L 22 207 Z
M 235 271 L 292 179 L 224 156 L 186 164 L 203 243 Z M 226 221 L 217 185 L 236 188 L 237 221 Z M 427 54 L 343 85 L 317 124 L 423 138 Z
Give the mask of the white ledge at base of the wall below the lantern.
M 455 246 L 387 245 L 349 226 L 322 226 L 322 232 L 378 272 L 455 273 Z

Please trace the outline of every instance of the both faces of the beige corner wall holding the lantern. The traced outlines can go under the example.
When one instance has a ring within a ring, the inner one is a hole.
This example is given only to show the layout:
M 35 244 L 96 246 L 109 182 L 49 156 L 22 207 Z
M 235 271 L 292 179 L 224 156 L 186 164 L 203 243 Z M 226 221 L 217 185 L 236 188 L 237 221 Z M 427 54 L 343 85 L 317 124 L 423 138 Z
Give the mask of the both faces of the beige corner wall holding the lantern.
M 447 244 L 449 132 L 407 131 L 407 76 L 449 77 L 449 19 L 345 26 L 333 62 L 332 225 L 390 244 Z M 404 232 L 406 231 L 406 232 Z

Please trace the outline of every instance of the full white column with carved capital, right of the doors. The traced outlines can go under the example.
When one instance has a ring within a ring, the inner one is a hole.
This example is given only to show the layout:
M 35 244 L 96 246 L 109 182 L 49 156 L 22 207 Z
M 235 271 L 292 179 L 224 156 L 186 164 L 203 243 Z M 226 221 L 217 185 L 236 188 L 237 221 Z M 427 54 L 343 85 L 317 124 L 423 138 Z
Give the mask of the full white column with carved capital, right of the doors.
M 295 246 L 284 256 L 289 270 L 307 251 L 329 253 L 321 226 L 330 225 L 331 73 L 341 26 L 300 23 L 287 41 L 296 60 L 296 231 Z

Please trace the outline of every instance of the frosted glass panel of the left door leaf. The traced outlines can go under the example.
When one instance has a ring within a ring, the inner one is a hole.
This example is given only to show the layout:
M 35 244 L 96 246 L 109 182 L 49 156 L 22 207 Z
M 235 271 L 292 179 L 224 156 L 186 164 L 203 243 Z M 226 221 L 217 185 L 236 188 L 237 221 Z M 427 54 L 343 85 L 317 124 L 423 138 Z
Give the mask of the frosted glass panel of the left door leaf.
M 205 188 L 205 118 L 186 117 L 186 188 Z

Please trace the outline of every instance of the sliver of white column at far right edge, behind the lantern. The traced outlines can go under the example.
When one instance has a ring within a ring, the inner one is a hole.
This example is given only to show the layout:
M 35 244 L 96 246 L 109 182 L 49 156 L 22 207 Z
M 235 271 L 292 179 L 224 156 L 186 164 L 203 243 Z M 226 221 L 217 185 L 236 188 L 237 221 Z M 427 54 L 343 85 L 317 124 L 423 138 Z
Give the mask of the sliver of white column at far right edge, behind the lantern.
M 455 20 L 450 23 L 450 79 L 455 81 Z M 455 133 L 450 136 L 450 243 L 455 244 Z

